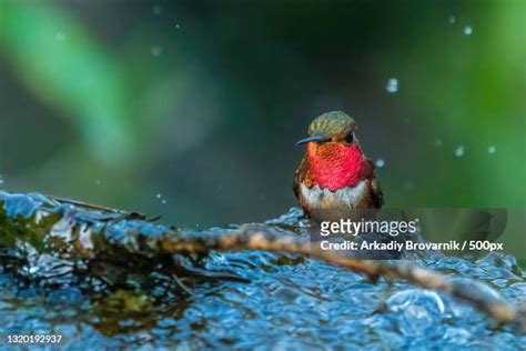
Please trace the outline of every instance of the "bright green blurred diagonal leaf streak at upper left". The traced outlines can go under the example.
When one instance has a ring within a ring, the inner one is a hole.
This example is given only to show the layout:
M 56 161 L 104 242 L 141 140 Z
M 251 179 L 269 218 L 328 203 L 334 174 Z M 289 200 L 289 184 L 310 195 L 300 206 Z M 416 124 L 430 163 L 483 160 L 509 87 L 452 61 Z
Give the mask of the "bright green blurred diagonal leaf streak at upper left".
M 131 157 L 127 79 L 75 16 L 49 3 L 8 1 L 1 46 L 36 98 L 72 118 L 93 154 Z

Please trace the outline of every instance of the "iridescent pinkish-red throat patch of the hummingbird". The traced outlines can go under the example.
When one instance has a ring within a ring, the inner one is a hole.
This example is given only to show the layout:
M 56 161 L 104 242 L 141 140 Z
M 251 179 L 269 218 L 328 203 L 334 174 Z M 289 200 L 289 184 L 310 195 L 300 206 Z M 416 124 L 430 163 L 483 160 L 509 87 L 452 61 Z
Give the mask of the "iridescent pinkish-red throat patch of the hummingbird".
M 356 187 L 367 177 L 368 164 L 358 146 L 310 142 L 307 157 L 315 184 L 336 191 Z

